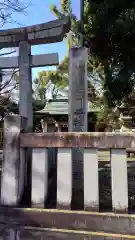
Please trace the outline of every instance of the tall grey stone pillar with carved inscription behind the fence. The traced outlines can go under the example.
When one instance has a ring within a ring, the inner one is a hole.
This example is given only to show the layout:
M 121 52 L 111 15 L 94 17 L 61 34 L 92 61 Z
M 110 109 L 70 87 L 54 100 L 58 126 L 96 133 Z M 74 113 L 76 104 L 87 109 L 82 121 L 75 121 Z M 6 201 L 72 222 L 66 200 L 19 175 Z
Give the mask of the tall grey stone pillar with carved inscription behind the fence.
M 87 132 L 87 49 L 73 47 L 69 59 L 69 131 Z M 84 207 L 83 149 L 72 150 L 73 205 Z

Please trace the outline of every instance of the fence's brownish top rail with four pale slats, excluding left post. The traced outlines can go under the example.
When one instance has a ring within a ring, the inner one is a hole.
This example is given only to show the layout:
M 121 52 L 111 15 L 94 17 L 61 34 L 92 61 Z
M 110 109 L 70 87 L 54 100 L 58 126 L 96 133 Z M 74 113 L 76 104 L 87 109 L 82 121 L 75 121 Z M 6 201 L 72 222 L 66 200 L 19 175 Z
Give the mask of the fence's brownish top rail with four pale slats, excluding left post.
M 34 189 L 39 189 L 39 178 L 35 178 L 34 168 L 39 154 L 42 154 L 40 173 L 44 180 L 40 182 L 42 191 L 38 198 L 47 194 L 47 151 L 48 147 L 58 148 L 57 157 L 57 207 L 71 208 L 72 201 L 72 148 L 84 148 L 84 209 L 99 210 L 99 181 L 97 149 L 107 147 L 111 154 L 112 205 L 116 212 L 128 211 L 128 182 L 126 148 L 134 146 L 135 135 L 112 133 L 51 133 L 21 134 L 20 146 L 33 148 L 32 202 L 37 203 Z M 45 148 L 44 150 L 41 148 Z M 44 164 L 45 162 L 45 164 Z M 42 170 L 41 170 L 42 169 Z M 75 174 L 75 172 L 74 172 Z M 45 183 L 45 185 L 44 185 Z

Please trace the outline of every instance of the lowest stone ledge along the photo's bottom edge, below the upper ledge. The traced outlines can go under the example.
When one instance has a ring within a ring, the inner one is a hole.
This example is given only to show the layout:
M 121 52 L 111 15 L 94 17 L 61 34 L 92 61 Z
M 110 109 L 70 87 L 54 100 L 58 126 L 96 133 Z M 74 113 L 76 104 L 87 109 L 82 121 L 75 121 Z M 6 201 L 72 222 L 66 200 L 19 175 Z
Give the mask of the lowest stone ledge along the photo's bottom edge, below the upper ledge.
M 9 230 L 8 230 L 9 231 Z M 67 229 L 49 229 L 49 228 L 20 228 L 10 230 L 12 236 L 19 236 L 19 240 L 120 240 L 135 239 L 132 235 L 111 234 L 103 232 L 88 232 Z M 17 239 L 17 238 L 15 238 Z

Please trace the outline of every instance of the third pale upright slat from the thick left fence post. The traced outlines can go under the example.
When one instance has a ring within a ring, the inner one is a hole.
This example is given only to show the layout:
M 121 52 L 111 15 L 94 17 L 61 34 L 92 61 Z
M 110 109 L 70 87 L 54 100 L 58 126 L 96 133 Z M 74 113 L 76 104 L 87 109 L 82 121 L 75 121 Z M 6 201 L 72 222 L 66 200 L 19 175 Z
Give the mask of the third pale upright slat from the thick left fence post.
M 84 150 L 84 208 L 99 210 L 98 154 L 96 149 Z

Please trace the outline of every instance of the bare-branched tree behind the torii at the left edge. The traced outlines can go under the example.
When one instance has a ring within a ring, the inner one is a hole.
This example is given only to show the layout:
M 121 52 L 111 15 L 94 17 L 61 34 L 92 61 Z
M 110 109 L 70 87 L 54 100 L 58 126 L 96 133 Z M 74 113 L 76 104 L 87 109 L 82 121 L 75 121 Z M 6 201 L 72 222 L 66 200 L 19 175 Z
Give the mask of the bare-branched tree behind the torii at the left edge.
M 27 5 L 28 6 L 28 5 Z M 7 22 L 13 22 L 13 13 L 24 13 L 26 4 L 20 0 L 3 0 L 0 3 L 0 28 Z M 15 21 L 16 22 L 16 21 Z M 0 48 L 2 50 L 2 48 Z M 15 50 L 10 52 L 0 53 L 0 56 L 9 55 L 14 53 Z M 12 100 L 12 91 L 16 88 L 15 78 L 17 71 L 3 71 L 0 69 L 0 116 L 3 118 L 4 114 L 9 112 L 17 113 L 18 105 Z

